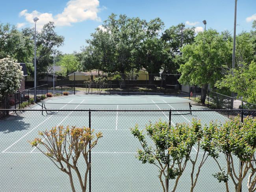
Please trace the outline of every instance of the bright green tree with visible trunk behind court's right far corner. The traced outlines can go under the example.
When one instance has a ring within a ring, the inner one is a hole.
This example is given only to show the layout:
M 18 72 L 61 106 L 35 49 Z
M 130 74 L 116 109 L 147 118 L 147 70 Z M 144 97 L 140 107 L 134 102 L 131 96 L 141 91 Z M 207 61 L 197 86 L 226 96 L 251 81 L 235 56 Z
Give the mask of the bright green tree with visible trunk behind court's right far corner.
M 202 91 L 201 103 L 205 103 L 208 85 L 214 87 L 222 77 L 223 66 L 230 66 L 232 49 L 228 42 L 216 30 L 209 29 L 199 32 L 195 42 L 185 45 L 181 52 L 185 64 L 180 65 L 182 76 L 180 83 L 199 85 Z

